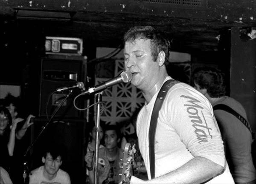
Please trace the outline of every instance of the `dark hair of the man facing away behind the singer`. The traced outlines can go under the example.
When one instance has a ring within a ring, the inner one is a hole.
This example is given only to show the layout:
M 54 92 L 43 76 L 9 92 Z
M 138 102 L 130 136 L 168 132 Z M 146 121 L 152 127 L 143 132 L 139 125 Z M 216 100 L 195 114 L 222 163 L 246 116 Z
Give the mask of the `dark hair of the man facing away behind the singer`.
M 211 98 L 218 98 L 226 94 L 224 74 L 216 68 L 196 68 L 192 74 L 192 79 L 201 89 L 207 89 Z

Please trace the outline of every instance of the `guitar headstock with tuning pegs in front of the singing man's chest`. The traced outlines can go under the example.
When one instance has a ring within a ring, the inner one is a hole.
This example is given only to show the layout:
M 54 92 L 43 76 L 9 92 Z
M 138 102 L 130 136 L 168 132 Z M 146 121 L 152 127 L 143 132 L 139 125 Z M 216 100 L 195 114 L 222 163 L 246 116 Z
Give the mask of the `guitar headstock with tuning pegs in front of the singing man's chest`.
M 123 164 L 122 164 L 122 184 L 129 184 L 131 179 L 132 164 L 134 163 L 134 154 L 136 153 L 135 144 L 131 147 L 130 143 L 125 144 Z

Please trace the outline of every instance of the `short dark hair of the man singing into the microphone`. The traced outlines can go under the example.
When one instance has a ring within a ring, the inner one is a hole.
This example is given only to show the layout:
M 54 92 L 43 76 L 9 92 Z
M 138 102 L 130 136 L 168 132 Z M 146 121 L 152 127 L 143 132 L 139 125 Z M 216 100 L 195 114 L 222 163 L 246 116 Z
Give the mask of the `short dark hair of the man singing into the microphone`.
M 157 60 L 160 51 L 164 51 L 166 54 L 164 65 L 168 65 L 171 44 L 167 39 L 166 34 L 162 31 L 153 28 L 150 25 L 147 26 L 134 26 L 130 28 L 124 35 L 124 42 L 134 42 L 136 39 L 149 39 L 151 40 L 151 56 L 154 61 Z

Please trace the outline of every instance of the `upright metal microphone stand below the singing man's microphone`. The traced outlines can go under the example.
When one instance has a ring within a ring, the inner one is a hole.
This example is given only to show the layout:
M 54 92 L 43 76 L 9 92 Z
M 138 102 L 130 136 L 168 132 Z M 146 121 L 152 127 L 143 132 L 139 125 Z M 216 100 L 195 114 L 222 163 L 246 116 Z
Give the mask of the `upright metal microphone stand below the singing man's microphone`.
M 102 93 L 97 93 L 96 94 L 96 102 L 102 102 Z M 94 184 L 98 184 L 99 183 L 99 176 L 98 176 L 98 162 L 99 162 L 99 132 L 97 130 L 99 130 L 99 122 L 100 122 L 100 105 L 101 103 L 97 104 L 97 116 L 96 116 L 96 143 L 95 143 L 95 165 L 94 165 L 94 178 L 93 178 L 93 182 Z

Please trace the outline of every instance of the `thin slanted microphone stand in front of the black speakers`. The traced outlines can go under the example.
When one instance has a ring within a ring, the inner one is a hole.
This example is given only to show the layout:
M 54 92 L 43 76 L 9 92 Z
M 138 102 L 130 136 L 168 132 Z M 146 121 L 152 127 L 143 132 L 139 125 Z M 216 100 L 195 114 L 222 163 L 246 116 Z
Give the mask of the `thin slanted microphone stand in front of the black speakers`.
M 35 140 L 32 142 L 32 144 L 30 144 L 30 146 L 28 147 L 28 149 L 26 150 L 26 153 L 24 155 L 24 170 L 23 170 L 23 178 L 24 178 L 24 184 L 26 182 L 26 171 L 28 170 L 28 166 L 27 166 L 27 161 L 26 161 L 26 156 L 29 153 L 29 151 L 32 149 L 32 147 L 35 145 L 35 142 L 38 140 L 38 138 L 41 136 L 41 134 L 44 132 L 45 128 L 49 125 L 49 123 L 52 121 L 53 117 L 55 116 L 55 114 L 58 112 L 58 110 L 60 110 L 60 108 L 62 107 L 62 105 L 64 104 L 64 102 L 66 102 L 67 98 L 70 96 L 70 94 L 73 92 L 72 89 L 69 90 L 69 93 L 67 94 L 67 96 L 65 97 L 64 100 L 61 101 L 61 103 L 57 106 L 57 108 L 55 108 L 55 110 L 52 113 L 52 116 L 50 117 L 50 119 L 48 120 L 47 124 L 41 129 L 40 133 L 38 134 L 38 136 L 35 138 Z

